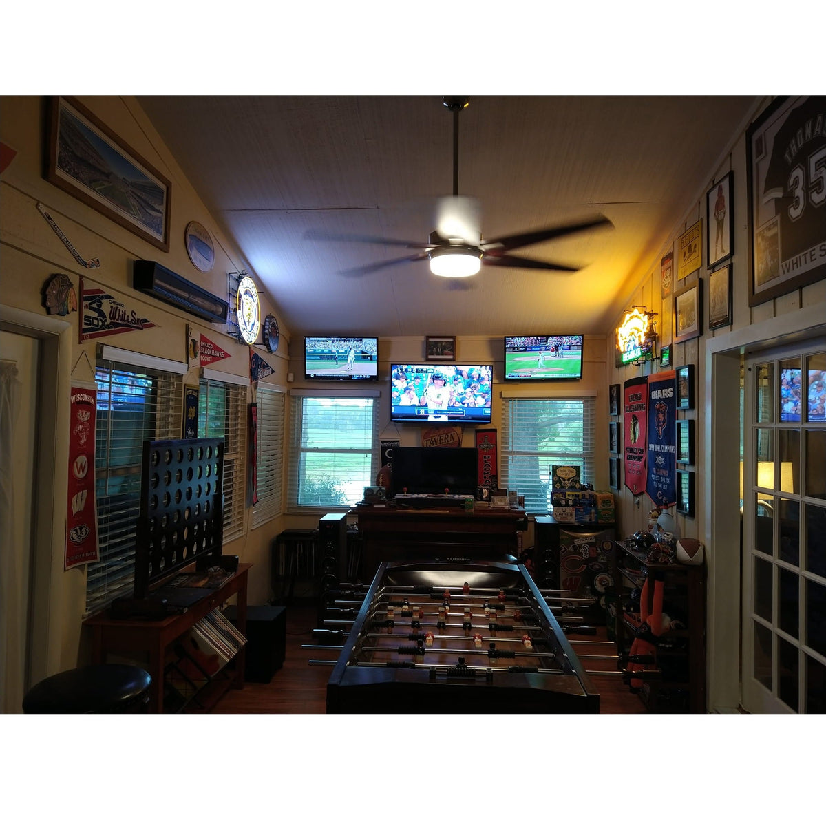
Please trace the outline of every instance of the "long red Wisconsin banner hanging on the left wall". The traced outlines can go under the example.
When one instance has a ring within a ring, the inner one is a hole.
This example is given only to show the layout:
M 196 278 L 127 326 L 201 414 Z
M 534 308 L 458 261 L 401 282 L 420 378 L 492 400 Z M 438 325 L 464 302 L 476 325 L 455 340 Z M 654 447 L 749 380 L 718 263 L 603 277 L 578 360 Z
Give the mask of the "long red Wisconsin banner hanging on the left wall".
M 69 492 L 64 571 L 96 563 L 95 413 L 97 388 L 73 385 L 69 396 Z

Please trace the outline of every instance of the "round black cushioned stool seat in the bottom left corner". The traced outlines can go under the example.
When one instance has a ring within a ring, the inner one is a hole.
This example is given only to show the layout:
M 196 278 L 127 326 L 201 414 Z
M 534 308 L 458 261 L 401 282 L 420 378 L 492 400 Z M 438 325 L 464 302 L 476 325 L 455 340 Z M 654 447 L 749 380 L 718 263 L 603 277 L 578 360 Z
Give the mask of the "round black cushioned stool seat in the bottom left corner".
M 149 702 L 152 677 L 137 666 L 82 666 L 32 686 L 24 714 L 141 714 Z

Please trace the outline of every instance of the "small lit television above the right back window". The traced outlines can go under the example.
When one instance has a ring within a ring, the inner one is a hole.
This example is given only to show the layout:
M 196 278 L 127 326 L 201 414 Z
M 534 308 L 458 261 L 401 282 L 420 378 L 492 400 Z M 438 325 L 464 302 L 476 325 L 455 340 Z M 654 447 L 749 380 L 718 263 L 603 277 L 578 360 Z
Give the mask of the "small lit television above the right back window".
M 506 335 L 506 382 L 582 378 L 582 335 Z

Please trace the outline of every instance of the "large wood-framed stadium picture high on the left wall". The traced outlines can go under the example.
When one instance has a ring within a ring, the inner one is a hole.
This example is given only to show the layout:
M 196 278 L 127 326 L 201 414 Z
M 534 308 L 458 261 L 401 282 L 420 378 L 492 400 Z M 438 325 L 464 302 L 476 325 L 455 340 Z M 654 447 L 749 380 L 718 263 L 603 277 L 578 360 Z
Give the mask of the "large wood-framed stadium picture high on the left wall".
M 74 98 L 51 99 L 46 149 L 47 181 L 169 252 L 171 184 Z

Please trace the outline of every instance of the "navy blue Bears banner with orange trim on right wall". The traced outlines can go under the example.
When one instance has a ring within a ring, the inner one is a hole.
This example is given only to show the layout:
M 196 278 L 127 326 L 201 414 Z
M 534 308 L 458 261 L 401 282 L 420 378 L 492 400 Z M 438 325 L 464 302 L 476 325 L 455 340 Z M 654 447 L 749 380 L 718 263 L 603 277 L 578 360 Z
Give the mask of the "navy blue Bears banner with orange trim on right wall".
M 648 485 L 660 508 L 676 503 L 676 372 L 648 377 Z

